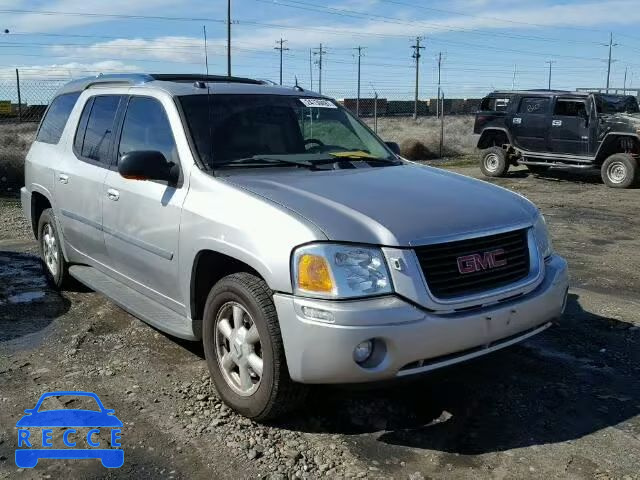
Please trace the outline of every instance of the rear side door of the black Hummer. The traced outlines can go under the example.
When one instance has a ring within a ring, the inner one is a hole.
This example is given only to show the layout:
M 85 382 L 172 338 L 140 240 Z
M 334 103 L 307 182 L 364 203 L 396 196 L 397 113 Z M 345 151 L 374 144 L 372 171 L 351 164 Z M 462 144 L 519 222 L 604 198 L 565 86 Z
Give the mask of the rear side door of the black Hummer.
M 523 150 L 546 152 L 549 133 L 550 97 L 524 96 L 511 118 L 514 143 Z

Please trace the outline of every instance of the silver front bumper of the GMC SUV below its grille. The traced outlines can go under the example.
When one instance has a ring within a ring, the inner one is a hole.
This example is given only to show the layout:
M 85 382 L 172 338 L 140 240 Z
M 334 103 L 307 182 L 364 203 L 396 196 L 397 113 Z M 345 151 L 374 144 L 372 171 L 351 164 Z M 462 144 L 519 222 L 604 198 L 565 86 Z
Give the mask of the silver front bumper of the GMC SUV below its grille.
M 445 367 L 503 348 L 562 315 L 569 278 L 559 256 L 545 262 L 544 280 L 520 297 L 474 310 L 438 315 L 387 296 L 355 301 L 276 294 L 291 378 L 302 383 L 387 380 Z M 309 318 L 303 307 L 331 312 L 331 323 Z M 353 360 L 354 347 L 375 339 L 374 366 Z

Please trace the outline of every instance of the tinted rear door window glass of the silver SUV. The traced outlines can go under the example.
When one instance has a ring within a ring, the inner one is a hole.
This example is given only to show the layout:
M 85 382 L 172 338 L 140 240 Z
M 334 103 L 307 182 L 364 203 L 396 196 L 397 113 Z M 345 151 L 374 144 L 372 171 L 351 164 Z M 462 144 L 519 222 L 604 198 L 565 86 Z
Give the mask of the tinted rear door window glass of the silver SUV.
M 109 149 L 113 139 L 113 128 L 120 103 L 119 95 L 95 97 L 84 133 L 84 141 L 80 154 L 97 162 L 109 163 Z M 84 112 L 83 112 L 84 115 Z

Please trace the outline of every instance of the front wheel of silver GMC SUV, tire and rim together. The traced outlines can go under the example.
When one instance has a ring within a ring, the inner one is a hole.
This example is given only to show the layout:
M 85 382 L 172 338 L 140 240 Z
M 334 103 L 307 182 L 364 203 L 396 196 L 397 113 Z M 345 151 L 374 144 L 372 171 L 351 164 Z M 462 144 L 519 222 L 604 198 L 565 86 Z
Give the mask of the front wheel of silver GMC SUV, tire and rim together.
M 257 421 L 295 408 L 304 385 L 289 378 L 278 316 L 264 280 L 229 275 L 213 286 L 204 308 L 202 340 L 221 399 Z

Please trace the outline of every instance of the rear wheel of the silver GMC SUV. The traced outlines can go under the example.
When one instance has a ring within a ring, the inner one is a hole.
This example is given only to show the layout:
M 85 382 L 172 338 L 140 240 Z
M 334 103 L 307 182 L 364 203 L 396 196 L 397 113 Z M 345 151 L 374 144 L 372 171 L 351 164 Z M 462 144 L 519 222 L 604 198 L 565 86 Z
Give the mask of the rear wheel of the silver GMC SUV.
M 51 208 L 44 210 L 38 220 L 38 246 L 47 282 L 61 289 L 69 280 L 68 264 L 62 253 L 62 241 Z

